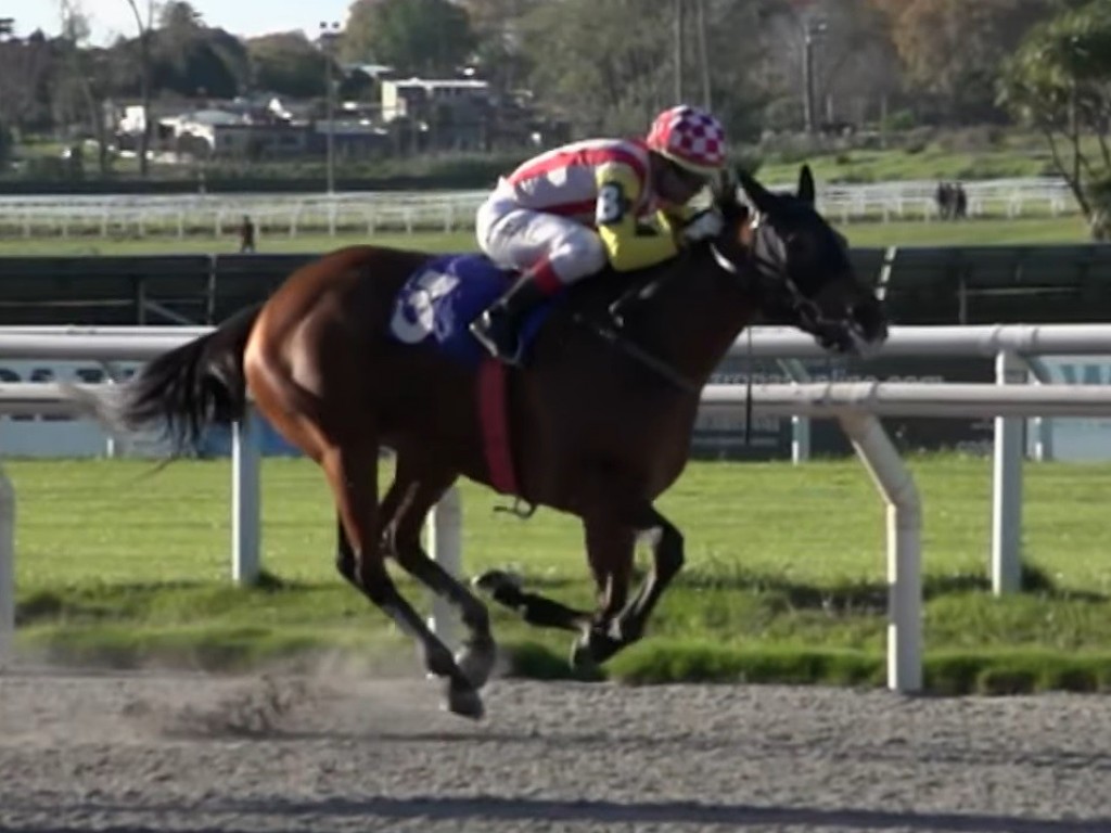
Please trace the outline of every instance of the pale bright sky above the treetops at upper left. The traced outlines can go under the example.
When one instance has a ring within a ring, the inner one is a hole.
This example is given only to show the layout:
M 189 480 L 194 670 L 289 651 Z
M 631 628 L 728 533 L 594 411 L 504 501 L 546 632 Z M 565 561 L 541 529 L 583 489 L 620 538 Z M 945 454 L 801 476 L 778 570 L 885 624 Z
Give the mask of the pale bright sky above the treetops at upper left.
M 351 0 L 190 0 L 204 22 L 232 34 L 254 36 L 303 29 L 316 37 L 321 22 L 347 20 Z M 127 0 L 72 0 L 90 18 L 92 40 L 108 43 L 116 36 L 133 37 L 134 17 Z M 147 0 L 139 0 L 146 8 Z M 36 29 L 57 34 L 59 0 L 0 0 L 0 18 L 14 18 L 16 34 L 26 37 Z

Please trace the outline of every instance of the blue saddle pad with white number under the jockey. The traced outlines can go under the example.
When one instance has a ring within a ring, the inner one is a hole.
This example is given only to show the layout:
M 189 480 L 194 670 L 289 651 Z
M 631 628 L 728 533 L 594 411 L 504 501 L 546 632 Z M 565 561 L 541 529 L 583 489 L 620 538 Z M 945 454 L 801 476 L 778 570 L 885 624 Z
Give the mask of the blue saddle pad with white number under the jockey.
M 452 359 L 478 365 L 488 353 L 467 328 L 516 278 L 516 272 L 499 269 L 482 254 L 434 258 L 398 293 L 390 334 L 406 344 L 437 344 Z M 521 327 L 526 347 L 550 312 L 547 301 L 526 318 Z

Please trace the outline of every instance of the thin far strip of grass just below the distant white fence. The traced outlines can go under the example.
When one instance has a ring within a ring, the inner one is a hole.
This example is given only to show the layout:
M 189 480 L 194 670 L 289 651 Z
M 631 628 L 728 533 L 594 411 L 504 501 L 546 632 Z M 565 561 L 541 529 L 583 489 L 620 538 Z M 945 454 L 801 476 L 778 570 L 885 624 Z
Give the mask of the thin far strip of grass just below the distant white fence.
M 1015 243 L 1080 243 L 1088 231 L 1077 217 L 1019 218 L 1014 220 L 970 220 L 967 222 L 854 222 L 840 227 L 854 247 L 888 245 L 985 245 Z M 353 243 L 377 243 L 431 251 L 469 251 L 476 248 L 471 232 L 414 232 L 343 234 L 304 234 L 297 238 L 264 235 L 261 252 L 324 252 Z M 39 238 L 0 240 L 0 257 L 32 255 L 121 255 L 233 253 L 239 249 L 234 238 L 146 238 L 103 240 L 100 238 Z

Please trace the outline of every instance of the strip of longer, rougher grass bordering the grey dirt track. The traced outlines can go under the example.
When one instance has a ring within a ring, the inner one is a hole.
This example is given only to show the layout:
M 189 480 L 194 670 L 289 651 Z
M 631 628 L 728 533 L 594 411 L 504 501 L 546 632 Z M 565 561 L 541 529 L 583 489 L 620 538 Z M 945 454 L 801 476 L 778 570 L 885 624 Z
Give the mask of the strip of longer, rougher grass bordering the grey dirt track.
M 494 610 L 506 673 L 634 685 L 883 684 L 882 586 L 783 588 L 772 576 L 752 576 L 748 586 L 724 584 L 681 582 L 648 639 L 603 669 L 587 671 L 570 668 L 568 635 L 530 632 Z M 973 576 L 927 584 L 925 640 L 939 646 L 925 659 L 929 692 L 1111 691 L 1111 651 L 1093 649 L 1111 642 L 1102 624 L 1111 606 L 1104 598 L 1043 584 L 1003 600 L 988 595 L 985 586 L 952 590 L 978 584 Z M 582 596 L 587 588 L 560 582 L 557 590 Z M 411 585 L 404 591 L 420 598 Z M 412 656 L 412 646 L 381 614 L 338 585 L 82 584 L 31 593 L 18 615 L 20 648 L 61 664 L 228 672 L 311 664 L 321 655 L 371 665 Z

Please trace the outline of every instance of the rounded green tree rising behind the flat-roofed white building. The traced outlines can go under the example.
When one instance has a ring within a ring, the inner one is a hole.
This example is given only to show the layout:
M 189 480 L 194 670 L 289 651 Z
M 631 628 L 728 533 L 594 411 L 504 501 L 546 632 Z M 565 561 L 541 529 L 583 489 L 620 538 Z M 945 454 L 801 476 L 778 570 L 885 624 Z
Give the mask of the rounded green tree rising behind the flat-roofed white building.
M 349 61 L 436 78 L 453 76 L 474 44 L 467 10 L 451 0 L 357 0 L 340 48 Z

